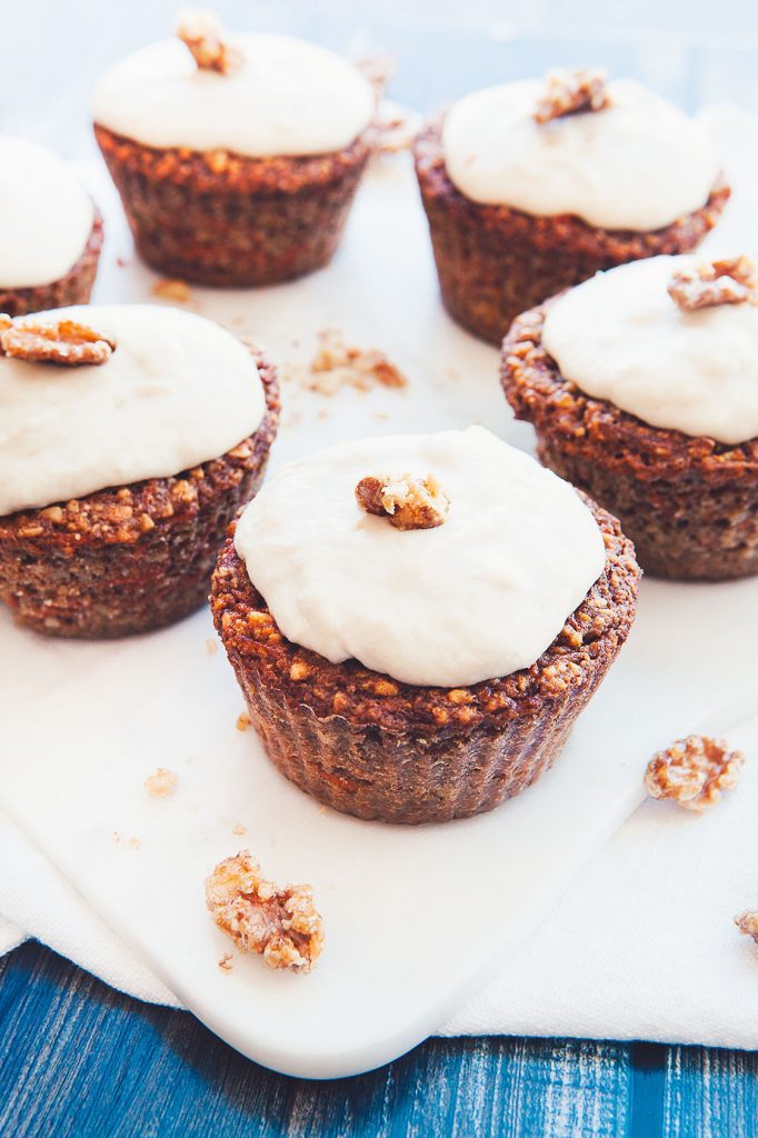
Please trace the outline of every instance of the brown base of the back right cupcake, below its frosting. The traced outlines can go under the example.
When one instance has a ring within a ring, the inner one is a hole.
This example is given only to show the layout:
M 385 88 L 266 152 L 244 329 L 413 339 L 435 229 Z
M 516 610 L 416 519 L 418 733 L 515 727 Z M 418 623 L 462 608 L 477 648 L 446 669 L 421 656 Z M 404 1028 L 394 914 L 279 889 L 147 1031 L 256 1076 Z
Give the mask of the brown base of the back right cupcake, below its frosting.
M 727 185 L 717 185 L 702 209 L 644 233 L 598 229 L 571 214 L 538 217 L 481 205 L 447 176 L 442 122 L 417 139 L 415 171 L 445 307 L 497 346 L 519 313 L 602 269 L 697 248 L 730 197 Z

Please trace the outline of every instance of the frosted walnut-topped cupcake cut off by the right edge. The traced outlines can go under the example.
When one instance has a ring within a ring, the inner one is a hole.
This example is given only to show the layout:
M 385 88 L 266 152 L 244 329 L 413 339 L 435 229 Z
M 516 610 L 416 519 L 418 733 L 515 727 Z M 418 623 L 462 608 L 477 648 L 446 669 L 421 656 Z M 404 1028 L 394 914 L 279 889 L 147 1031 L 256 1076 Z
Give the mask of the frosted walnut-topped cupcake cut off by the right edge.
M 542 461 L 616 514 L 645 572 L 758 572 L 758 279 L 652 257 L 514 321 L 502 380 Z

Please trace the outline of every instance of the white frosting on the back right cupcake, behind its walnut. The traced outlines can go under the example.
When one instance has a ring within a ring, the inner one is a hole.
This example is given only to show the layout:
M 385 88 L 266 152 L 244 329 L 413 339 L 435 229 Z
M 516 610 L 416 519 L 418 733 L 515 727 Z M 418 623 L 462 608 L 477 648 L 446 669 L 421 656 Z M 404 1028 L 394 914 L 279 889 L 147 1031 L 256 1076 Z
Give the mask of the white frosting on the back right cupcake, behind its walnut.
M 534 112 L 543 86 L 491 86 L 451 108 L 445 164 L 465 197 L 631 230 L 660 229 L 705 205 L 718 162 L 706 133 L 677 107 L 634 80 L 617 80 L 605 109 L 541 125 Z

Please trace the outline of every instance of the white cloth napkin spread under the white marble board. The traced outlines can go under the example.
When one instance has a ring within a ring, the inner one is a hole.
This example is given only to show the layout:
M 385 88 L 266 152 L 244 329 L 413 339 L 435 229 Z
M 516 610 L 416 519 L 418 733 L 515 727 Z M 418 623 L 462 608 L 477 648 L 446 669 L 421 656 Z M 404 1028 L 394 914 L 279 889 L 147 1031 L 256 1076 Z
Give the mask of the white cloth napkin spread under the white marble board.
M 570 1036 L 758 1047 L 758 717 L 730 732 L 740 785 L 697 816 L 648 802 L 442 1034 Z M 570 809 L 570 802 L 567 803 Z M 179 1001 L 0 816 L 0 953 L 25 937 L 124 992 Z

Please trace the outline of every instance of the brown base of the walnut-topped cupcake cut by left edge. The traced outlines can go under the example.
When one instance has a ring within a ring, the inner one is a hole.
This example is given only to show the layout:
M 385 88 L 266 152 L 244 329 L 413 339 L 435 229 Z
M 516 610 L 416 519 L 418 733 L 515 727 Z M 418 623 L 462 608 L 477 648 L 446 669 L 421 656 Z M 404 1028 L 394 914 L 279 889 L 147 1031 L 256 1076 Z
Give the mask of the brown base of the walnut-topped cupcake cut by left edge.
M 126 636 L 204 603 L 226 527 L 258 489 L 277 434 L 275 370 L 255 356 L 266 413 L 232 451 L 173 478 L 0 518 L 0 600 L 19 625 L 55 636 Z

